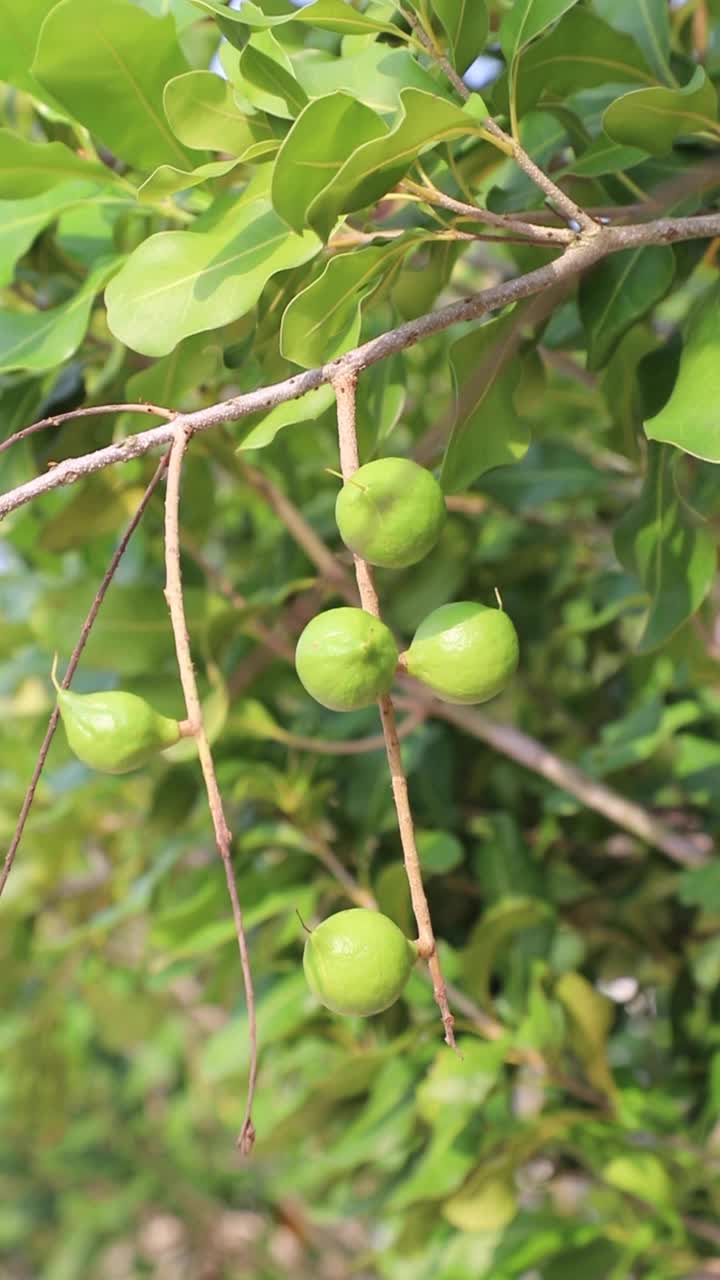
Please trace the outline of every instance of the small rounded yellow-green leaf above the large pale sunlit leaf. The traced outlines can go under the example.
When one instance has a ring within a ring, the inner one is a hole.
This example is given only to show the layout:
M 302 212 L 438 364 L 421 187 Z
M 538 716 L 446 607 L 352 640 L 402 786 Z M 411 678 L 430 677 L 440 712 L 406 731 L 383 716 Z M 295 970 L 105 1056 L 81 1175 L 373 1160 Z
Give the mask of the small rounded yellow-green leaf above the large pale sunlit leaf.
M 243 115 L 228 82 L 213 72 L 176 76 L 165 84 L 163 104 L 173 133 L 193 150 L 228 151 L 240 157 L 270 137 L 263 119 Z

